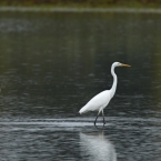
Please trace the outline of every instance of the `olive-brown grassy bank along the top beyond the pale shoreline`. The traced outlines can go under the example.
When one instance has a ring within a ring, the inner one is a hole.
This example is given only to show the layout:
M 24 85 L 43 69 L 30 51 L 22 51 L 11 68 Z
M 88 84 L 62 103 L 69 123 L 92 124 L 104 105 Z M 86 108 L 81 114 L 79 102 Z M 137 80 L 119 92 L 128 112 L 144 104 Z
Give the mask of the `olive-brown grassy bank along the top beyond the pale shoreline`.
M 1 0 L 1 7 L 161 8 L 161 0 Z

